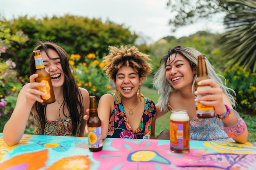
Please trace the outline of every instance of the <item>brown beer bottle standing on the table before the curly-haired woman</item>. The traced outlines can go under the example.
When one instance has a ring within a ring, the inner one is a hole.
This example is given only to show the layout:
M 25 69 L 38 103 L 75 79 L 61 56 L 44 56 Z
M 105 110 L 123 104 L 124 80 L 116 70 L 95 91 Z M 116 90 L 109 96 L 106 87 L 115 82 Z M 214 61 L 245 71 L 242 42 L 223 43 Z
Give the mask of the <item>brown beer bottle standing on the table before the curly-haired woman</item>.
M 103 141 L 101 133 L 101 120 L 98 116 L 96 97 L 90 96 L 90 112 L 87 121 L 88 126 L 88 145 L 91 152 L 102 150 Z

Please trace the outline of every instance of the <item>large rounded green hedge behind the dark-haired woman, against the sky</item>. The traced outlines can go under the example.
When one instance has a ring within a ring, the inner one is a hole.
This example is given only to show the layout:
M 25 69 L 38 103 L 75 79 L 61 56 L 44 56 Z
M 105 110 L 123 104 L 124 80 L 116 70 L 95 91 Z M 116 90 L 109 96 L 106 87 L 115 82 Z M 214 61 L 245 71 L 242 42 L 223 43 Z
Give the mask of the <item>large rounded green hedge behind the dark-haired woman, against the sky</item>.
M 124 28 L 123 24 L 115 24 L 111 21 L 103 23 L 100 19 L 74 15 L 45 16 L 43 18 L 25 15 L 11 20 L 5 20 L 0 16 L 1 23 L 7 25 L 11 32 L 22 30 L 29 38 L 24 46 L 16 44 L 2 56 L 3 59 L 8 59 L 8 54 L 15 56 L 13 61 L 17 63 L 17 69 L 21 76 L 28 74 L 29 62 L 26 59 L 38 39 L 56 42 L 69 55 L 83 56 L 98 51 L 100 56 L 104 56 L 108 54 L 108 46 L 134 44 L 138 37 L 128 28 Z M 5 58 L 6 56 L 7 58 Z

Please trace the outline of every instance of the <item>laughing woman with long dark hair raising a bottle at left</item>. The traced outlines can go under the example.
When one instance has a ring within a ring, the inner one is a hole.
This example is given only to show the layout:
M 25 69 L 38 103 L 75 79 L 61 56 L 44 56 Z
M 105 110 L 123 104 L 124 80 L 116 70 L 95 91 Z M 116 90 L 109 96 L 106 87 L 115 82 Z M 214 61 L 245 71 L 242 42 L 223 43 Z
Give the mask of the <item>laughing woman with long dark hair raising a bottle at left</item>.
M 11 118 L 4 126 L 3 139 L 9 146 L 21 139 L 29 118 L 34 117 L 35 135 L 83 136 L 86 121 L 83 116 L 89 109 L 89 93 L 76 85 L 65 50 L 51 41 L 38 41 L 34 50 L 40 50 L 45 69 L 51 76 L 56 102 L 42 105 L 38 87 L 44 84 L 35 82 L 36 72 L 34 53 L 30 56 L 29 81 L 22 87 Z

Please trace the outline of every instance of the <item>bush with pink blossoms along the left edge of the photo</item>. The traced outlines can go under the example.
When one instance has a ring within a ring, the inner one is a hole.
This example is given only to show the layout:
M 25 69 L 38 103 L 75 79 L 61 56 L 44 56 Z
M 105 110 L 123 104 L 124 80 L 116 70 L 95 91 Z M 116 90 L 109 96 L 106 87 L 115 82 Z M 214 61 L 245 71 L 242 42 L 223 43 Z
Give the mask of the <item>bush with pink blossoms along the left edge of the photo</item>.
M 0 22 L 0 57 L 8 49 L 13 48 L 15 44 L 22 45 L 27 40 L 27 36 L 22 31 L 13 33 L 5 24 Z M 9 58 L 15 57 L 9 56 Z M 0 58 L 0 132 L 9 120 L 16 105 L 18 93 L 22 88 L 21 80 L 17 78 L 18 71 L 14 68 L 16 68 L 16 64 L 11 59 L 4 61 Z

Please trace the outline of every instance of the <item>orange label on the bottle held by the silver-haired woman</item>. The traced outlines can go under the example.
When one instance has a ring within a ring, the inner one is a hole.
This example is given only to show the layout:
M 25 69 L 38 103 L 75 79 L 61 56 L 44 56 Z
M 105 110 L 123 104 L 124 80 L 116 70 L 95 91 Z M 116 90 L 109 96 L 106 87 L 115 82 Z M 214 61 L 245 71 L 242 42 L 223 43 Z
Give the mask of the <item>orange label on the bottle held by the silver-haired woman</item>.
M 202 86 L 202 87 L 198 87 L 197 90 L 202 90 L 210 87 L 211 86 Z M 199 94 L 197 97 L 200 98 L 206 95 L 209 95 L 209 94 Z M 214 108 L 212 106 L 205 106 L 200 102 L 195 102 L 195 106 L 197 107 L 197 111 L 196 111 L 197 114 L 202 115 L 202 114 L 210 113 L 212 116 L 214 116 Z

